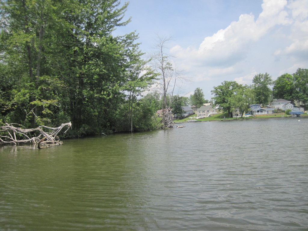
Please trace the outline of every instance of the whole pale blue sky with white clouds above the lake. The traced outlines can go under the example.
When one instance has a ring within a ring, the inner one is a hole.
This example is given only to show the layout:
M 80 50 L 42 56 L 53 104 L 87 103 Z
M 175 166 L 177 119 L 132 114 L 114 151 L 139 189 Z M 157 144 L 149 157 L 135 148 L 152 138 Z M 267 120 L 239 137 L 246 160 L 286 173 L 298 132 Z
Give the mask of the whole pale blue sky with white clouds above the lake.
M 250 85 L 259 73 L 275 80 L 308 68 L 308 0 L 130 0 L 129 17 L 115 33 L 136 30 L 147 54 L 157 34 L 172 37 L 167 53 L 191 80 L 181 96 L 200 87 L 211 99 L 223 81 Z

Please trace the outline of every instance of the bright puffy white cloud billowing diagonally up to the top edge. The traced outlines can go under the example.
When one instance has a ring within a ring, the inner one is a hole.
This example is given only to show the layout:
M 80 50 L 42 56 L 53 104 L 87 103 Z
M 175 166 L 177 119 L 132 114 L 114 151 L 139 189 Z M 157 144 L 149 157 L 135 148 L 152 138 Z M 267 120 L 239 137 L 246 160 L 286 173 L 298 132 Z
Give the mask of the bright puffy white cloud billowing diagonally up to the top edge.
M 177 45 L 172 51 L 179 59 L 190 60 L 193 66 L 230 67 L 245 59 L 253 43 L 270 28 L 290 23 L 287 12 L 283 10 L 286 4 L 286 0 L 265 0 L 256 21 L 252 14 L 242 14 L 238 21 L 206 37 L 197 49 L 183 49 Z

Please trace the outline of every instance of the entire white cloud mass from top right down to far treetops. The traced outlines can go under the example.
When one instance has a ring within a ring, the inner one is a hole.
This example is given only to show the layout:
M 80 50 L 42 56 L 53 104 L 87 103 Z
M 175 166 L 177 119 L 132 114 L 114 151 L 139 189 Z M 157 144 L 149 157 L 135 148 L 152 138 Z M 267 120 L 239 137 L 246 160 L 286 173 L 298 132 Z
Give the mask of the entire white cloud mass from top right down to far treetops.
M 198 47 L 172 47 L 176 63 L 205 93 L 224 80 L 250 85 L 258 73 L 275 79 L 308 68 L 308 0 L 263 0 L 261 7 L 258 16 L 241 14 Z

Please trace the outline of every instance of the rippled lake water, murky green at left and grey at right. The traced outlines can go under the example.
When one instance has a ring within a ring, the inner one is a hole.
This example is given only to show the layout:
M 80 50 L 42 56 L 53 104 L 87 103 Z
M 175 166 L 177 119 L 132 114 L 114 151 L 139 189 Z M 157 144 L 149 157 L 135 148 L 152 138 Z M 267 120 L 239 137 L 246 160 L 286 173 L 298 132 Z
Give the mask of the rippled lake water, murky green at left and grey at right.
M 0 146 L 0 230 L 308 230 L 308 118 L 184 125 Z

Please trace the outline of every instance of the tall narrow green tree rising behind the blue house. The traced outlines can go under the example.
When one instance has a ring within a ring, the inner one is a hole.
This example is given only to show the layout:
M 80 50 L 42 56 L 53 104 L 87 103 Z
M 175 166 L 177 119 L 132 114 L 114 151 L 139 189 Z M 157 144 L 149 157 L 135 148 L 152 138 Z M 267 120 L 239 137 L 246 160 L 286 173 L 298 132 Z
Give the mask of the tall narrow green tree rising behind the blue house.
M 267 105 L 270 102 L 272 91 L 270 85 L 273 83 L 272 77 L 268 74 L 255 75 L 253 77 L 253 91 L 256 103 Z

